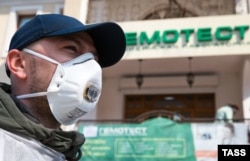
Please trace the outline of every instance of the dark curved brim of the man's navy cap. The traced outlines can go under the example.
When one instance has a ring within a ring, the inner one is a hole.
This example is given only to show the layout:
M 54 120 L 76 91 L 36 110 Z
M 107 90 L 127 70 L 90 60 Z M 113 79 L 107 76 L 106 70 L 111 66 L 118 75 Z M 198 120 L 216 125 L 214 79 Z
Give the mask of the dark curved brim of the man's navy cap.
M 99 64 L 101 67 L 112 66 L 123 57 L 126 49 L 125 35 L 121 27 L 113 22 L 63 29 L 47 36 L 67 35 L 81 31 L 87 32 L 92 37 L 99 55 Z

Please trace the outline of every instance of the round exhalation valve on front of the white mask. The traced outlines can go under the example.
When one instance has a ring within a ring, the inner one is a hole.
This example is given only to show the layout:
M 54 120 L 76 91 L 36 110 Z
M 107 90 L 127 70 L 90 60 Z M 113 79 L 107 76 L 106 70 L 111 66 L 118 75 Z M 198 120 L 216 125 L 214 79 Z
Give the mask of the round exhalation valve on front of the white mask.
M 84 98 L 88 102 L 96 102 L 100 94 L 99 88 L 94 84 L 89 84 L 84 92 Z

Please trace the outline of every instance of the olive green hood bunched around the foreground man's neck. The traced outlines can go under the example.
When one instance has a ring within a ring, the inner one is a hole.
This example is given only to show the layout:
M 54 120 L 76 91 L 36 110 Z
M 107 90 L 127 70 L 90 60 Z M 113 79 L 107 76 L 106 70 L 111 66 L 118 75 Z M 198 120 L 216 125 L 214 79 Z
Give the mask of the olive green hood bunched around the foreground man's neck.
M 10 96 L 10 86 L 0 84 L 0 129 L 13 134 L 33 138 L 41 144 L 65 155 L 69 161 L 81 158 L 81 146 L 85 138 L 77 131 L 62 131 L 45 128 L 31 121 L 17 107 Z

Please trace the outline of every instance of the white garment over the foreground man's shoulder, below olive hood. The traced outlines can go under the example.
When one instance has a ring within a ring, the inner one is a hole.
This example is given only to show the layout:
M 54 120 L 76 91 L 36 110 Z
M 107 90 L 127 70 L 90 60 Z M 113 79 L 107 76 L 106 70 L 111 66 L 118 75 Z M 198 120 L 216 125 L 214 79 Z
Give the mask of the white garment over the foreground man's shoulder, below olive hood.
M 42 154 L 42 155 L 41 155 Z M 3 158 L 3 160 L 1 160 Z M 0 129 L 0 161 L 65 161 L 63 154 L 40 142 Z

